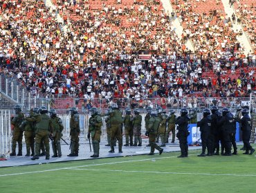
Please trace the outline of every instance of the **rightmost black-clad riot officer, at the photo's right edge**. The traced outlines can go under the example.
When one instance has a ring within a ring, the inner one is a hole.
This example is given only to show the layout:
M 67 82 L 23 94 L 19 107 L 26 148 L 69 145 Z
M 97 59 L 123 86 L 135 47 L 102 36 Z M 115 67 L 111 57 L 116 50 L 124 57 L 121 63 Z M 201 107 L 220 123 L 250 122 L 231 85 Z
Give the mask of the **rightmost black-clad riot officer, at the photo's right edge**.
M 243 116 L 241 119 L 239 119 L 239 122 L 241 123 L 241 131 L 242 131 L 242 139 L 244 143 L 245 151 L 243 154 L 253 154 L 255 152 L 255 149 L 252 148 L 250 145 L 250 134 L 252 130 L 252 123 L 249 116 L 248 109 L 241 110 L 241 115 Z M 249 153 L 250 150 L 250 153 Z

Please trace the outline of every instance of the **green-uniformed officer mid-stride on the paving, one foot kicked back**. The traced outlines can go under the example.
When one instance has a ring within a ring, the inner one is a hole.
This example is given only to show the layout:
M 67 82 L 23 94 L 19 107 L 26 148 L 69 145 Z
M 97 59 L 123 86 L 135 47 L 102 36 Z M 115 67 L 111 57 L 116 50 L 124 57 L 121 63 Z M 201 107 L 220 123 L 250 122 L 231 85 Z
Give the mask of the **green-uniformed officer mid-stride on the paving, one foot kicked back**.
M 146 136 L 149 136 L 150 143 L 150 153 L 149 155 L 154 155 L 155 148 L 159 151 L 159 154 L 163 153 L 163 149 L 156 144 L 156 134 L 158 127 L 160 125 L 161 119 L 157 116 L 155 109 L 151 111 L 151 117 L 149 119 L 149 128 L 146 132 Z

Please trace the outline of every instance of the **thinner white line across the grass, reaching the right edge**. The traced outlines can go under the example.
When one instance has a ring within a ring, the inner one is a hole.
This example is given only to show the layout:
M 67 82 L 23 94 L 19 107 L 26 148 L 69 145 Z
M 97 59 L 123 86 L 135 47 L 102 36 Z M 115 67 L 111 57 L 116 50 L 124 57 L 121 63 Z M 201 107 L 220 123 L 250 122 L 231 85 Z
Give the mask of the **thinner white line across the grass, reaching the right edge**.
M 155 171 L 127 171 L 127 170 L 104 170 L 104 169 L 90 169 L 90 168 L 75 168 L 72 170 L 89 170 L 100 172 L 128 172 L 128 173 L 150 173 L 150 174 L 185 174 L 185 175 L 203 175 L 203 176 L 253 176 L 256 174 L 208 174 L 208 173 L 190 173 L 190 172 L 155 172 Z

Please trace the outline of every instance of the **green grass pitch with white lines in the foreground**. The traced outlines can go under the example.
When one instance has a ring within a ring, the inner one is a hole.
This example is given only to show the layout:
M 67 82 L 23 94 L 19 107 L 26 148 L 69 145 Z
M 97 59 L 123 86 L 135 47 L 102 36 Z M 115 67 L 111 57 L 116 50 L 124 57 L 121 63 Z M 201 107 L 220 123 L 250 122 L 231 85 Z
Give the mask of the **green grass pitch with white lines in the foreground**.
M 126 156 L 0 168 L 1 192 L 256 192 L 256 157 Z

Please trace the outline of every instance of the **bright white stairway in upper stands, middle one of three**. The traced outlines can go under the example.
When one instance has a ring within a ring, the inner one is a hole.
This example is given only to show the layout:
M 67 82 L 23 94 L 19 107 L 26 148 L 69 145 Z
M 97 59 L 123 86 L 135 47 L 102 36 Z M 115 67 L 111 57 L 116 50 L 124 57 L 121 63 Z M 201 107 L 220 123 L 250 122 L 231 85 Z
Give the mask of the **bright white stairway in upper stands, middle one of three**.
M 163 4 L 163 8 L 165 8 L 165 12 L 167 12 L 167 14 L 170 16 L 170 14 L 174 12 L 170 0 L 161 0 L 161 2 Z M 181 40 L 183 34 L 183 27 L 181 26 L 178 17 L 175 17 L 175 19 L 172 21 L 172 29 L 175 30 L 176 34 L 179 37 L 179 40 Z M 194 45 L 192 41 L 190 41 L 190 39 L 185 43 L 185 46 L 188 50 L 194 52 Z

